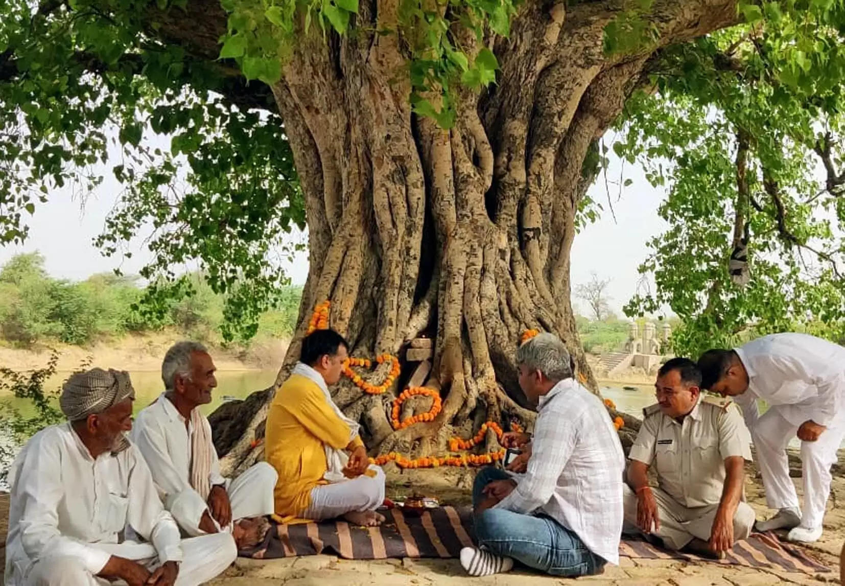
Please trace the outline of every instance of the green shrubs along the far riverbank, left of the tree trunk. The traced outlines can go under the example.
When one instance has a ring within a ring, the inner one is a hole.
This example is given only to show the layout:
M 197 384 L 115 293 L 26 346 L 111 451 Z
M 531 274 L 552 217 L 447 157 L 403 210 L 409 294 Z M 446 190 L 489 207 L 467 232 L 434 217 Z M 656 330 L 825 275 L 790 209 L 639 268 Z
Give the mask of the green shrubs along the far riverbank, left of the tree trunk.
M 139 307 L 144 289 L 137 277 L 102 273 L 67 282 L 47 275 L 40 254 L 17 255 L 0 268 L 0 337 L 24 348 L 53 340 L 81 346 L 174 328 L 184 337 L 218 342 L 225 298 L 199 273 L 185 275 L 178 286 L 156 298 L 155 309 Z M 283 288 L 278 308 L 260 317 L 259 336 L 292 336 L 302 294 L 302 287 Z

